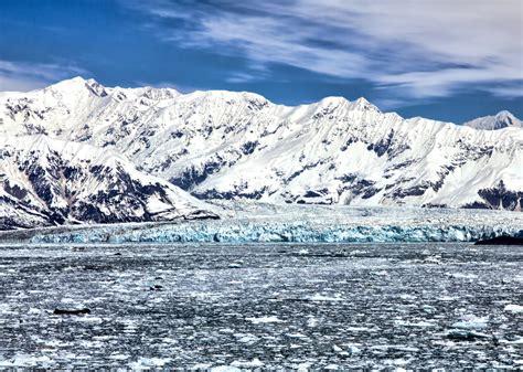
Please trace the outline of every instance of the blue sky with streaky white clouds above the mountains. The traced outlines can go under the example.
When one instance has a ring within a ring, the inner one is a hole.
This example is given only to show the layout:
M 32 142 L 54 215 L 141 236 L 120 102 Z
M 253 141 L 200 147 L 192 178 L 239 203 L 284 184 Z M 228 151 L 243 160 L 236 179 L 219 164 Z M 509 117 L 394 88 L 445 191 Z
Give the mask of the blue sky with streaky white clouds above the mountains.
M 523 1 L 0 1 L 0 91 L 78 75 L 286 105 L 363 96 L 453 123 L 522 118 Z

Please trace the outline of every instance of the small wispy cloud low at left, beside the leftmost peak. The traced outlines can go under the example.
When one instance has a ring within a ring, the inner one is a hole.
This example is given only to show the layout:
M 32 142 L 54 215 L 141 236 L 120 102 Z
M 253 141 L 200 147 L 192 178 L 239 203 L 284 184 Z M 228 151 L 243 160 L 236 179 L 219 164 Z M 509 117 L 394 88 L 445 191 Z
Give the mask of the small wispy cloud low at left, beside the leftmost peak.
M 85 74 L 85 70 L 70 64 L 0 60 L 0 92 L 26 92 L 47 86 L 60 79 Z

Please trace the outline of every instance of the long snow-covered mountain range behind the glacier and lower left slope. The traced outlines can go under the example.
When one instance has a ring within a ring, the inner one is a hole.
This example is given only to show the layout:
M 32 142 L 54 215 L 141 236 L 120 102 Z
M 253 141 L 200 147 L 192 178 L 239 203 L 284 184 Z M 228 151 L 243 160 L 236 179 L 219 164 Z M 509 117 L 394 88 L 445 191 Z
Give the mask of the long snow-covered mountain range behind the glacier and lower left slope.
M 107 88 L 74 78 L 0 94 L 10 135 L 111 148 L 199 198 L 521 210 L 523 129 L 404 119 L 360 98 Z

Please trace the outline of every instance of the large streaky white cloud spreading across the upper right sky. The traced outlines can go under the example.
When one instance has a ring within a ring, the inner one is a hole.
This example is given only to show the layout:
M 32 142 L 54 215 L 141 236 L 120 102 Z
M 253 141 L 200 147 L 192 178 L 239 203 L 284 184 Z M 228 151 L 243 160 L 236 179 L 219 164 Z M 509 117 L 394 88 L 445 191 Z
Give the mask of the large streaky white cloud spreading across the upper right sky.
M 363 78 L 406 98 L 470 85 L 523 96 L 521 0 L 124 3 L 156 20 L 163 40 L 243 55 L 253 68 L 278 63 Z M 236 81 L 247 75 L 238 72 Z

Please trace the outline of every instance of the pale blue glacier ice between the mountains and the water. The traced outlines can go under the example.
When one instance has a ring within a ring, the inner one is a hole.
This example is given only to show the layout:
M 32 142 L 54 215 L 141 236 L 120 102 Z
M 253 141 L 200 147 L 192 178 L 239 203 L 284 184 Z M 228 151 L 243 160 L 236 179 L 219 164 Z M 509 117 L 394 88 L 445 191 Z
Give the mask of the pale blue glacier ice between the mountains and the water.
M 504 211 L 280 205 L 212 201 L 211 221 L 76 225 L 0 233 L 19 243 L 363 243 L 474 242 L 523 237 L 523 214 Z

